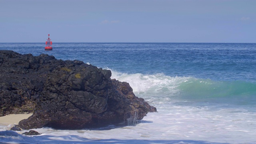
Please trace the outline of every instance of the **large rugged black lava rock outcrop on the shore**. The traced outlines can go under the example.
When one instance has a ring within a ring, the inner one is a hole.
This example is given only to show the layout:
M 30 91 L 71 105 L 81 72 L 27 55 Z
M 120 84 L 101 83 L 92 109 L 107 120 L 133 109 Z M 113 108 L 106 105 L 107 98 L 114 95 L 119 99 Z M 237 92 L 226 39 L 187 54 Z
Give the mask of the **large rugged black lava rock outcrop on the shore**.
M 22 129 L 81 129 L 134 123 L 156 112 L 111 71 L 82 61 L 0 51 L 0 116 L 33 112 Z

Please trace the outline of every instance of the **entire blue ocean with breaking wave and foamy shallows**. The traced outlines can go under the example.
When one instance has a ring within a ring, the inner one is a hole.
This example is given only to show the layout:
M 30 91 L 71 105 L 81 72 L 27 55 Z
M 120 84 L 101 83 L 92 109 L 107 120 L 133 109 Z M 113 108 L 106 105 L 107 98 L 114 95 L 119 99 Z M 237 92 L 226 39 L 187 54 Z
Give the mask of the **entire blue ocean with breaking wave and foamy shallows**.
M 0 142 L 256 144 L 255 43 L 0 43 L 0 50 L 82 60 L 112 71 L 158 112 L 132 126 L 36 129 L 0 125 Z M 26 132 L 28 130 L 23 130 Z

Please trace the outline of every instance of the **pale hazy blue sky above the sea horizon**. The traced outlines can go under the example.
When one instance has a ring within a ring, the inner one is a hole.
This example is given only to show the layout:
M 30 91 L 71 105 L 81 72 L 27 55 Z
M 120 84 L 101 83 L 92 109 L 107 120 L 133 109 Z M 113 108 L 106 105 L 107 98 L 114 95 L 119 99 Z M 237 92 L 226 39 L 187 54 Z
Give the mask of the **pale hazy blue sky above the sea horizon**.
M 256 43 L 256 0 L 0 0 L 0 42 Z

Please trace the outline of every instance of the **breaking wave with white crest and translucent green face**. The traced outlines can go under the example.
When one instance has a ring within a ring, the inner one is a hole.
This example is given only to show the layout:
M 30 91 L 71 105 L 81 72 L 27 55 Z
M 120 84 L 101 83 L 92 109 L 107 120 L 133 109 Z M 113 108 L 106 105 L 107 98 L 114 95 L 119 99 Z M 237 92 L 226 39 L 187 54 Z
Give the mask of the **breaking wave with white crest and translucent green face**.
M 236 104 L 254 104 L 256 102 L 256 83 L 253 82 L 171 77 L 163 73 L 145 75 L 111 71 L 112 79 L 128 82 L 134 93 L 141 96 L 168 97 L 201 102 L 234 102 Z

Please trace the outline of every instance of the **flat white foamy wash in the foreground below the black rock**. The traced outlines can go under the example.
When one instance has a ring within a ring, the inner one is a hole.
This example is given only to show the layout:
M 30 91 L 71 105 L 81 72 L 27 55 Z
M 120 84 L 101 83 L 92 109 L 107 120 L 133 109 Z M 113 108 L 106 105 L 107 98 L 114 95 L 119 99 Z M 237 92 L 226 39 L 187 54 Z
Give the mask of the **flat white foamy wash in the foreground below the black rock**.
M 3 132 L 2 142 L 25 143 L 255 143 L 256 115 L 241 108 L 165 105 L 149 113 L 136 126 L 111 130 L 36 129 L 42 135 L 21 136 Z M 167 110 L 168 109 L 168 110 Z M 111 127 L 111 126 L 110 126 Z M 35 130 L 35 129 L 34 129 Z M 27 130 L 23 130 L 25 132 Z M 30 142 L 32 140 L 32 142 Z M 146 141 L 145 141 L 146 140 Z

